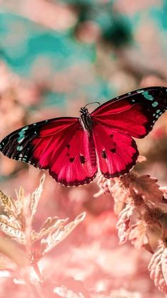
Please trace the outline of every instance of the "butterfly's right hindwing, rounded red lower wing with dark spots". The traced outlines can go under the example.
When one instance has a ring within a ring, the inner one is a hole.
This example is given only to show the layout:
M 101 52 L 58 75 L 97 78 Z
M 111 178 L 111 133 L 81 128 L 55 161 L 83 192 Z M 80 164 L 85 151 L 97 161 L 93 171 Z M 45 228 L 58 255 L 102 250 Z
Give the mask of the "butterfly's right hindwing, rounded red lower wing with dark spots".
M 135 165 L 139 152 L 135 141 L 127 133 L 96 124 L 93 138 L 104 177 L 119 177 Z

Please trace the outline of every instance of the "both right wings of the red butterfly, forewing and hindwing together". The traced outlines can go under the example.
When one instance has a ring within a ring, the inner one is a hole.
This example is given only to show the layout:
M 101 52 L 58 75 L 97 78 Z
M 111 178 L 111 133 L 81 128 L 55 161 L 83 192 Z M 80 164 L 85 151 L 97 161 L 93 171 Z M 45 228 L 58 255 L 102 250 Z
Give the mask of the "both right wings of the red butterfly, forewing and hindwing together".
M 93 138 L 105 177 L 129 172 L 139 155 L 132 136 L 144 138 L 166 109 L 166 87 L 149 87 L 118 96 L 93 111 Z

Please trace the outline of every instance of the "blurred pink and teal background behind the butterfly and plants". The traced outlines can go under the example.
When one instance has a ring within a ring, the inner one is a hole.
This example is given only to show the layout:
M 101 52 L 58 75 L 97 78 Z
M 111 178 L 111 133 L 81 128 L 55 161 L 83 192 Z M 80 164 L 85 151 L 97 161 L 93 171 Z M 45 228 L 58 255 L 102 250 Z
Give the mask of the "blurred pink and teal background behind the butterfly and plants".
M 166 16 L 166 0 L 1 0 L 1 139 L 46 118 L 79 116 L 91 101 L 167 87 Z M 136 170 L 166 185 L 167 116 L 137 144 L 147 161 Z M 20 185 L 33 192 L 42 172 L 1 156 L 0 174 L 0 189 L 15 197 Z M 96 181 L 66 188 L 47 175 L 35 225 L 47 216 L 87 216 L 41 260 L 46 275 L 81 280 L 91 297 L 163 297 L 147 271 L 151 254 L 118 245 L 113 199 L 96 192 Z

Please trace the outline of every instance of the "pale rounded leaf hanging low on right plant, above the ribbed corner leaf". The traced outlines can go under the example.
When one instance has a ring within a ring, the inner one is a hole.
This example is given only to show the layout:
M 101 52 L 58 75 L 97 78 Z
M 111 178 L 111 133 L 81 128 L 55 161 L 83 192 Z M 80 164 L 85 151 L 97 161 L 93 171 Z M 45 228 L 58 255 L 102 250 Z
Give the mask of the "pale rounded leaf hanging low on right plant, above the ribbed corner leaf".
M 129 233 L 129 240 L 132 241 L 132 244 L 135 248 L 140 249 L 148 245 L 149 238 L 146 235 L 147 224 L 140 220 L 135 225 L 132 226 L 132 229 Z

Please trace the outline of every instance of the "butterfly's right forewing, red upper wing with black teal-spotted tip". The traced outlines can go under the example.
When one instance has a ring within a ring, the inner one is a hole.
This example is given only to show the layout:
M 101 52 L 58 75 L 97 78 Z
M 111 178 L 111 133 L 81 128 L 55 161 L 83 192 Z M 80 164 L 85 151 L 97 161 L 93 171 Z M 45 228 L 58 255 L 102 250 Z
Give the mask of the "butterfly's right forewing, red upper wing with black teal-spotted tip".
M 167 109 L 166 90 L 166 87 L 148 87 L 129 92 L 102 104 L 91 116 L 95 123 L 134 138 L 144 138 Z

